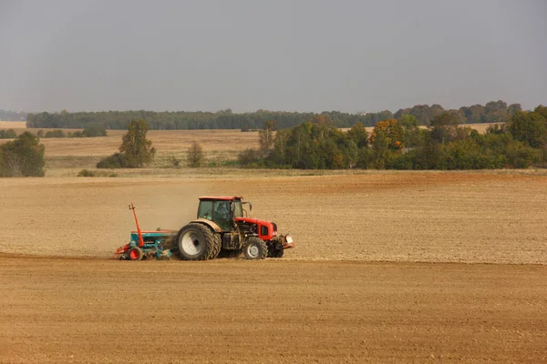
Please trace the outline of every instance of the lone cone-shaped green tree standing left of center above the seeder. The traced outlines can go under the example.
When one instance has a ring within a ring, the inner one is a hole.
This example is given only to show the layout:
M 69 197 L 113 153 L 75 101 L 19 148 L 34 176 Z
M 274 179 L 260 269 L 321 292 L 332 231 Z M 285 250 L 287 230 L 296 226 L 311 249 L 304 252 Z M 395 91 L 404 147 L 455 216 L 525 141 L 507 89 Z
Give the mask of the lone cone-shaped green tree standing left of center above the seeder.
M 122 137 L 119 154 L 126 168 L 144 167 L 154 159 L 156 148 L 152 141 L 146 138 L 148 126 L 144 119 L 132 120 L 128 132 Z

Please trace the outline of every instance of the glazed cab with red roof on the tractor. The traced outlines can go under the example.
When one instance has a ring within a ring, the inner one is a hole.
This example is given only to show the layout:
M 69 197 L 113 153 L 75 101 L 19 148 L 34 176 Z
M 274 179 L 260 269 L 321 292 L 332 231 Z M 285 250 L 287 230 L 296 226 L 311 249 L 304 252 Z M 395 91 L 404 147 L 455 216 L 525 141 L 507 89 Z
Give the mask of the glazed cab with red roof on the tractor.
M 243 217 L 243 197 L 200 197 L 198 218 L 211 220 L 222 231 L 231 231 L 236 217 Z

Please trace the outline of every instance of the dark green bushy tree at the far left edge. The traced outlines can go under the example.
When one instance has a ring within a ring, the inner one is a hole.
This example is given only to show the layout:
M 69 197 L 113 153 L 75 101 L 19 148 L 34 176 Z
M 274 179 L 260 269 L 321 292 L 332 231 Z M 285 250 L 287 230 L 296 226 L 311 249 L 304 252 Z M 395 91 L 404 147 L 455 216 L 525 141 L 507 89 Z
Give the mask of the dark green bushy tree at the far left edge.
M 28 131 L 0 145 L 0 177 L 44 177 L 44 150 Z

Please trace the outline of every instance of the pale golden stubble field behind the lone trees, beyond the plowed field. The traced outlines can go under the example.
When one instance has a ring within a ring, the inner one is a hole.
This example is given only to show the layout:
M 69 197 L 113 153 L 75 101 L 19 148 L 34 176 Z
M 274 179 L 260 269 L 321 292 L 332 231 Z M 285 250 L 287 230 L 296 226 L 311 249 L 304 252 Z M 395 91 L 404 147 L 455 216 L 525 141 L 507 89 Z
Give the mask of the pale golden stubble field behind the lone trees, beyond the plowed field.
M 490 124 L 469 124 L 483 133 Z M 39 129 L 27 129 L 25 122 L 0 122 L 0 129 L 14 128 L 17 134 Z M 371 132 L 373 127 L 367 127 Z M 44 129 L 45 131 L 47 129 Z M 74 132 L 79 129 L 62 129 Z M 76 177 L 82 168 L 94 168 L 101 157 L 107 157 L 118 151 L 121 136 L 126 130 L 108 130 L 108 136 L 90 138 L 42 138 L 46 147 L 46 177 Z M 192 141 L 199 141 L 205 154 L 206 166 L 223 166 L 235 160 L 245 148 L 257 148 L 258 133 L 242 133 L 240 130 L 150 130 L 148 137 L 157 149 L 154 171 L 144 174 L 154 176 L 180 175 L 180 169 L 173 169 L 170 158 L 174 157 L 184 165 L 188 147 Z M 0 140 L 0 143 L 5 142 Z M 131 176 L 134 171 L 118 170 L 119 177 Z M 137 171 L 142 174 L 142 170 Z M 294 172 L 293 172 L 294 173 Z

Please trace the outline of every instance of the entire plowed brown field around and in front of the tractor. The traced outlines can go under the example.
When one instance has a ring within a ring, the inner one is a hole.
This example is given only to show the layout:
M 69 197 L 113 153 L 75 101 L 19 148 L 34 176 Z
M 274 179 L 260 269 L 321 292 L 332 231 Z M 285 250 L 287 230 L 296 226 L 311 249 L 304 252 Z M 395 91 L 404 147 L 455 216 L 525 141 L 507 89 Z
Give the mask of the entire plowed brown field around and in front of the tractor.
M 297 247 L 108 259 L 129 202 L 178 228 L 206 194 Z M 0 179 L 0 362 L 546 361 L 546 203 L 503 172 Z

